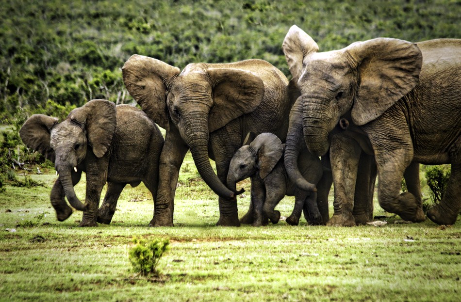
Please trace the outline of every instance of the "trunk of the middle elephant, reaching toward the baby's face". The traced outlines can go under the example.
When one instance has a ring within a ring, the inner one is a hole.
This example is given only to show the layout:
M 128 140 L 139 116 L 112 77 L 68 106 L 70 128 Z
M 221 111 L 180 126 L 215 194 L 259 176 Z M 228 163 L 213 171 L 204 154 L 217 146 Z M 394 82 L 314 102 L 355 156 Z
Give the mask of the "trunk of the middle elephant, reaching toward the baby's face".
M 187 123 L 188 125 L 185 127 L 189 132 L 183 137 L 184 141 L 189 145 L 198 173 L 205 183 L 220 197 L 225 199 L 233 198 L 235 192 L 229 190 L 221 180 L 219 180 L 208 158 L 209 134 L 207 119 L 205 117 L 195 116 L 194 114 L 190 114 L 189 118 L 190 123 Z M 199 125 L 198 123 L 203 123 L 203 125 Z M 200 130 L 197 130 L 198 128 Z

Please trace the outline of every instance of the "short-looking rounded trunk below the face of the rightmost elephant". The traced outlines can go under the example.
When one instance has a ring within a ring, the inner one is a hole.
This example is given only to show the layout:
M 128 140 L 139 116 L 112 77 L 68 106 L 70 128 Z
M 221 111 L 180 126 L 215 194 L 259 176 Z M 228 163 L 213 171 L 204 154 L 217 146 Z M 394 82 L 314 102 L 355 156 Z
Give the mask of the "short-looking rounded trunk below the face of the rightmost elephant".
M 313 101 L 313 98 L 307 95 L 301 97 L 304 141 L 314 155 L 323 156 L 329 150 L 329 132 L 338 123 L 337 108 L 332 108 L 323 102 Z

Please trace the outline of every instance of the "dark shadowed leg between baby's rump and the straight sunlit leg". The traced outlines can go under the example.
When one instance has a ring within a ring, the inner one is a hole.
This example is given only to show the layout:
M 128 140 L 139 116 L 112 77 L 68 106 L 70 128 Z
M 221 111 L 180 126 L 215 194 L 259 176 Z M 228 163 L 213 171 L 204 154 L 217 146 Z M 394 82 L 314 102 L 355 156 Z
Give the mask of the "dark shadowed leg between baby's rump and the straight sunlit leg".
M 322 178 L 317 183 L 317 207 L 322 216 L 322 224 L 325 225 L 329 221 L 328 195 L 333 184 L 329 153 L 322 157 L 322 164 Z

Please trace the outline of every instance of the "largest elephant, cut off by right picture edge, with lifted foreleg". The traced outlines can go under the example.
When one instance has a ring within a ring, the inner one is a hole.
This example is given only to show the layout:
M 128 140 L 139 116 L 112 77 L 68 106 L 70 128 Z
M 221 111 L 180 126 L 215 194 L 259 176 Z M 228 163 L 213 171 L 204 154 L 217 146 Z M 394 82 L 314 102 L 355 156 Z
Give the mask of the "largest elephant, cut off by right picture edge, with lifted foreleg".
M 380 206 L 413 222 L 425 216 L 413 193 L 399 193 L 407 167 L 451 163 L 445 195 L 427 215 L 438 224 L 455 223 L 461 208 L 461 40 L 378 38 L 317 51 L 296 26 L 287 33 L 284 52 L 301 90 L 309 150 L 325 154 L 332 129 L 349 114 L 374 151 Z

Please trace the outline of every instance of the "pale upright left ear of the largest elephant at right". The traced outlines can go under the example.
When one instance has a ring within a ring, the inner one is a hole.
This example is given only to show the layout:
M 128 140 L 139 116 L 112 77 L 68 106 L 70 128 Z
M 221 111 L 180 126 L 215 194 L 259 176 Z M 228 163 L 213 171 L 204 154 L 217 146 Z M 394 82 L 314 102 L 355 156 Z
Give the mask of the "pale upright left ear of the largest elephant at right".
M 282 49 L 291 75 L 297 82 L 302 73 L 304 58 L 318 51 L 317 43 L 310 35 L 293 25 L 283 40 Z

